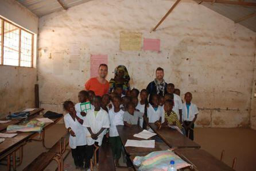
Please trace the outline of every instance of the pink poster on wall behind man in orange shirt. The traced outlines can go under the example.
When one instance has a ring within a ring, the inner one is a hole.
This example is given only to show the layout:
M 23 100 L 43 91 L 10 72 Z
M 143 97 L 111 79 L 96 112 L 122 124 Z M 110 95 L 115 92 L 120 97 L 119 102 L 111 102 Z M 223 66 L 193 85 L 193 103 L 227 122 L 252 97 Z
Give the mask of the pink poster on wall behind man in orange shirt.
M 107 64 L 107 55 L 91 55 L 91 78 L 98 76 L 98 69 L 100 64 Z

